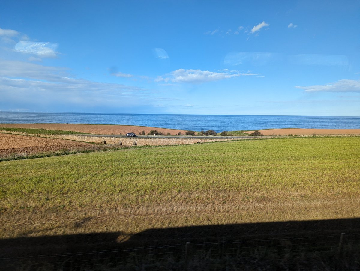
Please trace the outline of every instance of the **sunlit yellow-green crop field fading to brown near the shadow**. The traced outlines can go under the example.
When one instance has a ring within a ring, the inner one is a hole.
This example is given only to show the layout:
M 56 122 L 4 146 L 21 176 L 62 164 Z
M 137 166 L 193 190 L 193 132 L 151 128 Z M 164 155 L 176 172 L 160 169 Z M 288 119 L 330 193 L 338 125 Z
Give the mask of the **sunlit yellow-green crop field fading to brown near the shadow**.
M 5 161 L 0 182 L 1 238 L 360 217 L 360 137 Z

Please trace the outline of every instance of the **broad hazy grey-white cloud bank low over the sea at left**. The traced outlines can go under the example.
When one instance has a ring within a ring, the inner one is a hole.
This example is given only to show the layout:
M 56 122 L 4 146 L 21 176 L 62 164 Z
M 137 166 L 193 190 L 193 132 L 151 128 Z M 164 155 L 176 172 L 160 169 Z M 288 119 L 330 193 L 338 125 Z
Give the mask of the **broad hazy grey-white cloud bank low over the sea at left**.
M 154 98 L 151 91 L 140 87 L 90 81 L 73 76 L 66 68 L 11 60 L 0 60 L 0 89 L 2 107 L 53 104 L 116 108 L 119 104 L 148 105 Z

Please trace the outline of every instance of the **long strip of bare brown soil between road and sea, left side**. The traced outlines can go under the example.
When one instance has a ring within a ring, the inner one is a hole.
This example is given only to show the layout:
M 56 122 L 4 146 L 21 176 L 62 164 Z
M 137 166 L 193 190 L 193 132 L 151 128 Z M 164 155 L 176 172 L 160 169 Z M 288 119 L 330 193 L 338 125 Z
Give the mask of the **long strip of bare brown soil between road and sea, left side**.
M 186 130 L 173 130 L 166 128 L 146 127 L 146 126 L 130 126 L 130 125 L 94 125 L 94 124 L 68 124 L 68 123 L 0 123 L 0 127 L 6 128 L 34 128 L 46 130 L 63 130 L 75 131 L 96 135 L 125 135 L 126 133 L 134 132 L 139 135 L 140 132 L 145 131 L 148 134 L 151 130 L 158 130 L 163 134 L 168 132 L 171 135 L 177 135 L 178 132 L 185 134 Z

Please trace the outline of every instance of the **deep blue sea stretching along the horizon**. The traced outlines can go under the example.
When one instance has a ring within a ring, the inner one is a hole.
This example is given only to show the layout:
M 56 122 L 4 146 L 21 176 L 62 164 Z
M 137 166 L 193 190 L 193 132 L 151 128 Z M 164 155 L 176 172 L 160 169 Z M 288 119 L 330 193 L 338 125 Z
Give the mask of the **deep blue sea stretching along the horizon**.
M 181 130 L 360 128 L 360 117 L 0 112 L 0 123 L 122 124 Z

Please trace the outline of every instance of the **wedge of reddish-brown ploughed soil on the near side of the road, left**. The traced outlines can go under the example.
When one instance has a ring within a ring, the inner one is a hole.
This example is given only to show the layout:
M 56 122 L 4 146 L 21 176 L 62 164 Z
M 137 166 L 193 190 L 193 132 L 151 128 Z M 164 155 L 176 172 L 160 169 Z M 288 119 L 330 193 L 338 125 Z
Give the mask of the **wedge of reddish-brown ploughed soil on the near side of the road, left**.
M 74 149 L 92 144 L 64 139 L 0 133 L 0 155 L 12 153 L 43 153 Z

